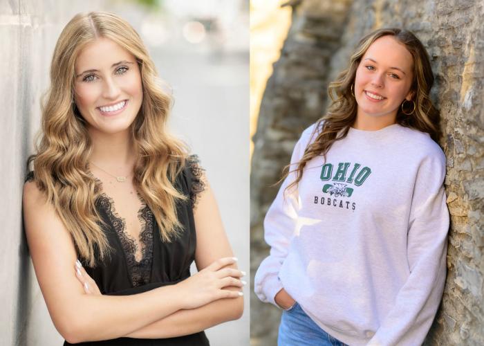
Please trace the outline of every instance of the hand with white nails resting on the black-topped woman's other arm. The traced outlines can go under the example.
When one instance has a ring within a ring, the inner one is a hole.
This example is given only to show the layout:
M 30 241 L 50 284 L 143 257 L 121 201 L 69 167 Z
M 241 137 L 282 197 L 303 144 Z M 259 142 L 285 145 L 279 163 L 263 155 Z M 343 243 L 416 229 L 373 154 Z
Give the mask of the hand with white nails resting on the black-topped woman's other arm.
M 229 286 L 242 287 L 245 283 L 239 280 L 245 275 L 243 271 L 228 268 L 236 262 L 234 257 L 223 257 L 198 273 L 176 284 L 183 291 L 183 309 L 196 309 L 214 300 L 222 298 L 239 298 L 242 291 L 224 289 Z

